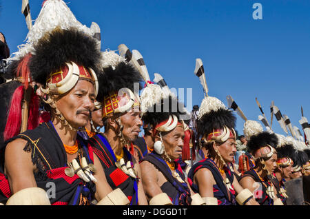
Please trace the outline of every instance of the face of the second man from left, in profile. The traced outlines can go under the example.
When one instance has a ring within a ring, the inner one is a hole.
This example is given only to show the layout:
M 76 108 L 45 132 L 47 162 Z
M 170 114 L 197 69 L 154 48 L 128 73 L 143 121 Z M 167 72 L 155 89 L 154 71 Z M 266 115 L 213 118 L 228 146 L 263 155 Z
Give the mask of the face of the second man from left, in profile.
M 143 125 L 141 120 L 141 111 L 132 109 L 121 116 L 121 123 L 123 125 L 123 136 L 125 140 L 134 141 L 138 138 Z

